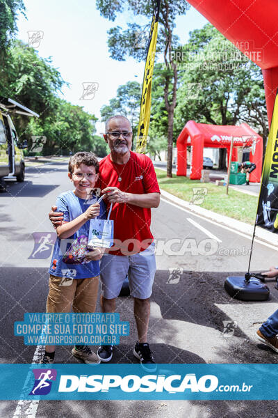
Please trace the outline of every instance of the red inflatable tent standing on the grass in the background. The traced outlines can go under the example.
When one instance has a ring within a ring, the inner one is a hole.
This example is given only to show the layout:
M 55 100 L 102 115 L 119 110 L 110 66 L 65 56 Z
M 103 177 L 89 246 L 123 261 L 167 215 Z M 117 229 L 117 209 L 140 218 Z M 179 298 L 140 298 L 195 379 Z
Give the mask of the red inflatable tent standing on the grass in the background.
M 250 153 L 250 161 L 256 164 L 256 170 L 250 173 L 250 181 L 261 181 L 263 138 L 259 136 L 247 123 L 238 126 L 206 125 L 188 121 L 177 139 L 177 176 L 186 176 L 186 151 L 191 146 L 191 180 L 199 180 L 203 168 L 203 150 L 208 148 L 227 148 L 228 161 L 231 148 L 231 137 L 234 137 L 232 161 L 237 161 L 238 146 L 252 146 L 254 154 Z

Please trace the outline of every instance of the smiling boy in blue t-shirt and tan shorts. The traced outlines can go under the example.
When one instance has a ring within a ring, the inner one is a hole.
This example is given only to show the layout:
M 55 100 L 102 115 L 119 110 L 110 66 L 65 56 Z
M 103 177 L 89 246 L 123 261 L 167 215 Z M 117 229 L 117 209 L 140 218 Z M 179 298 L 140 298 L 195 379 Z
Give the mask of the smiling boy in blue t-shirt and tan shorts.
M 85 254 L 80 263 L 74 257 L 65 256 L 70 247 L 69 241 L 75 246 L 83 244 L 88 238 L 90 219 L 106 218 L 106 205 L 88 203 L 88 189 L 95 187 L 99 177 L 99 162 L 95 154 L 80 152 L 70 157 L 68 176 L 74 184 L 74 190 L 60 194 L 56 201 L 58 212 L 63 212 L 63 222 L 57 227 L 57 239 L 49 268 L 49 294 L 47 297 L 47 313 L 93 313 L 97 304 L 99 286 L 99 260 L 104 249 L 95 248 Z M 92 196 L 90 200 L 97 196 Z M 70 238 L 70 240 L 69 240 Z M 79 254 L 80 255 L 80 254 Z M 65 263 L 66 261 L 66 263 Z M 70 264 L 69 264 L 70 261 Z M 65 281 L 70 280 L 70 285 Z M 45 346 L 41 363 L 53 363 L 55 346 Z M 72 355 L 83 359 L 85 363 L 99 363 L 99 357 L 88 346 L 74 346 Z

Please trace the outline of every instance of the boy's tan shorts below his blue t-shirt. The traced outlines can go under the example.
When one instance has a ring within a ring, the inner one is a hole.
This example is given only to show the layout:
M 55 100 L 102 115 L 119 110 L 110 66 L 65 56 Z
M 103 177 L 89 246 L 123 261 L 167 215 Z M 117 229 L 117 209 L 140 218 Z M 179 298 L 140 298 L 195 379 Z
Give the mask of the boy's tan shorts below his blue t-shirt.
M 99 276 L 65 280 L 50 274 L 47 313 L 95 312 Z

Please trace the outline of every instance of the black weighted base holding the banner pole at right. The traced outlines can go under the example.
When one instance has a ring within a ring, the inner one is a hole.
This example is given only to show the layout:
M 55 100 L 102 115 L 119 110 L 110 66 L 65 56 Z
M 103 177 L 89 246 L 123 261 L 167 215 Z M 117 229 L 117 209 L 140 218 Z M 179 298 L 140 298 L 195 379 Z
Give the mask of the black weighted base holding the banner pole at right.
M 268 300 L 270 294 L 268 286 L 254 277 L 245 281 L 244 276 L 229 276 L 224 282 L 224 289 L 234 299 L 246 301 Z

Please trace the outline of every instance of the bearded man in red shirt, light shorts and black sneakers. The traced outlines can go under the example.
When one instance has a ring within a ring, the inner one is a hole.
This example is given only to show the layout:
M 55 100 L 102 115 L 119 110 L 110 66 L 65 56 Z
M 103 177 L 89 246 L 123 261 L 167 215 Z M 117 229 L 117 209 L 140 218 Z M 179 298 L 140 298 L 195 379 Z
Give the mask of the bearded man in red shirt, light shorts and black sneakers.
M 113 203 L 114 245 L 101 259 L 101 307 L 103 312 L 115 312 L 117 296 L 129 271 L 138 330 L 133 354 L 148 370 L 154 370 L 154 358 L 147 343 L 149 297 L 156 272 L 150 224 L 151 208 L 158 207 L 160 190 L 152 160 L 131 151 L 132 128 L 127 118 L 120 115 L 109 118 L 104 139 L 111 153 L 99 163 L 98 186 L 101 194 L 107 195 L 108 206 Z M 49 215 L 53 222 L 57 219 L 53 212 Z M 113 346 L 100 346 L 97 354 L 101 362 L 109 362 Z

